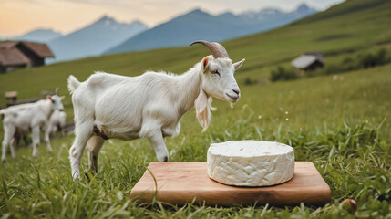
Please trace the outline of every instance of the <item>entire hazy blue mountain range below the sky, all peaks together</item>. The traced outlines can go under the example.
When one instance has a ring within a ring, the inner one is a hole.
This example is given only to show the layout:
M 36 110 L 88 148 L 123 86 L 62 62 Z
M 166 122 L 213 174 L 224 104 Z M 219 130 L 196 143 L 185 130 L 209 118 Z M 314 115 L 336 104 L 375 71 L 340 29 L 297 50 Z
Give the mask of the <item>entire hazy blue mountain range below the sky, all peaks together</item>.
M 195 9 L 151 29 L 139 21 L 121 23 L 102 16 L 65 36 L 51 29 L 36 29 L 11 39 L 46 43 L 55 55 L 55 59 L 46 60 L 50 63 L 101 54 L 180 47 L 199 39 L 221 41 L 283 26 L 316 12 L 305 4 L 292 12 L 265 8 L 239 15 L 226 12 L 214 16 Z

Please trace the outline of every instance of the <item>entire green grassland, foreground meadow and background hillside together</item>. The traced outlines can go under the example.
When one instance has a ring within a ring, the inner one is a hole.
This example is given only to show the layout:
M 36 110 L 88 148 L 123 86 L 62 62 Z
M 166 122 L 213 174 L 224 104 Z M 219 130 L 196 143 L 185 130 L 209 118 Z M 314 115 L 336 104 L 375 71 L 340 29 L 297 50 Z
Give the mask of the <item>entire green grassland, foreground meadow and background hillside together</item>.
M 190 110 L 180 135 L 167 139 L 170 161 L 206 161 L 212 142 L 279 141 L 294 148 L 297 161 L 311 161 L 332 190 L 325 206 L 163 206 L 139 205 L 129 193 L 149 162 L 156 161 L 146 140 L 109 140 L 99 156 L 99 172 L 74 183 L 67 151 L 73 136 L 56 138 L 54 152 L 40 157 L 22 145 L 17 159 L 0 164 L 3 218 L 391 218 L 391 65 L 339 74 L 246 86 L 246 78 L 268 78 L 270 70 L 305 51 L 321 51 L 325 63 L 391 47 L 390 1 L 350 0 L 318 15 L 267 33 L 223 42 L 233 61 L 246 62 L 236 78 L 242 98 L 230 108 L 215 100 L 211 127 L 201 132 Z M 388 50 L 389 51 L 389 50 Z M 177 47 L 89 57 L 0 75 L 0 93 L 17 90 L 19 99 L 60 87 L 67 120 L 73 107 L 67 77 L 85 80 L 94 70 L 135 76 L 145 70 L 182 73 L 208 55 L 204 47 Z M 0 106 L 5 99 L 0 99 Z M 3 128 L 0 136 L 3 137 Z M 87 169 L 87 156 L 81 169 Z M 345 198 L 357 201 L 349 213 Z

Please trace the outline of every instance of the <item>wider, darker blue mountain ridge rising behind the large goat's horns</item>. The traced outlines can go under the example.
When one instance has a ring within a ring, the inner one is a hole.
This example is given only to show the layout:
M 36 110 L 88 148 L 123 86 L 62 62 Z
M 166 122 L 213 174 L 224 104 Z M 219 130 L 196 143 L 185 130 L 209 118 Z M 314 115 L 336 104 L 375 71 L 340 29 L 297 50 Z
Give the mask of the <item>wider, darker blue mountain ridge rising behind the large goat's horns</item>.
M 257 12 L 233 15 L 230 12 L 213 16 L 201 9 L 177 16 L 170 21 L 155 26 L 133 36 L 106 51 L 106 54 L 139 51 L 160 47 L 180 47 L 203 39 L 221 41 L 238 36 L 250 35 L 291 23 L 317 11 L 305 4 L 292 12 L 266 8 Z

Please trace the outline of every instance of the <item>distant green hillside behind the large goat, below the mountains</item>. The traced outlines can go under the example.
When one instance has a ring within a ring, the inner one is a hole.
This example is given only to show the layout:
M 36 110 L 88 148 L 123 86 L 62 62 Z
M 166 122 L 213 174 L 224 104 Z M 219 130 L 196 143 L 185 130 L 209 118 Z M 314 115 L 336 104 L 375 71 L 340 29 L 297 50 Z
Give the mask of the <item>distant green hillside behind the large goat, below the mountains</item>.
M 246 58 L 241 74 L 237 76 L 239 81 L 247 77 L 267 77 L 270 68 L 288 64 L 305 51 L 323 52 L 327 64 L 364 50 L 390 47 L 388 21 L 391 3 L 385 0 L 370 3 L 371 6 L 368 6 L 368 1 L 350 0 L 315 15 L 314 21 L 310 16 L 289 26 L 227 41 L 223 45 L 233 60 Z M 344 8 L 358 9 L 351 12 Z M 128 76 L 161 69 L 180 74 L 206 55 L 208 51 L 204 47 L 177 47 L 89 57 L 43 68 L 29 68 L 0 75 L 0 93 L 18 90 L 20 99 L 25 99 L 39 95 L 42 89 L 59 86 L 65 91 L 68 75 L 73 74 L 84 80 L 95 70 Z M 5 99 L 0 99 L 0 106 L 4 103 Z

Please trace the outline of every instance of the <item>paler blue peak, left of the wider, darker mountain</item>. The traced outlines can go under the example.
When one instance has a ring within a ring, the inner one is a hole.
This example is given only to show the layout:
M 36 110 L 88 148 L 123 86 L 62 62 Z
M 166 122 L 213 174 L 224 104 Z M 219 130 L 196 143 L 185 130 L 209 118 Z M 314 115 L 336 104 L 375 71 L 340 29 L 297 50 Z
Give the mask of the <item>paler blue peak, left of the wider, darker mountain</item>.
M 148 28 L 139 21 L 120 23 L 111 17 L 103 16 L 93 24 L 66 36 L 57 37 L 47 44 L 54 52 L 56 61 L 98 56 Z

